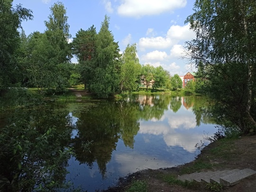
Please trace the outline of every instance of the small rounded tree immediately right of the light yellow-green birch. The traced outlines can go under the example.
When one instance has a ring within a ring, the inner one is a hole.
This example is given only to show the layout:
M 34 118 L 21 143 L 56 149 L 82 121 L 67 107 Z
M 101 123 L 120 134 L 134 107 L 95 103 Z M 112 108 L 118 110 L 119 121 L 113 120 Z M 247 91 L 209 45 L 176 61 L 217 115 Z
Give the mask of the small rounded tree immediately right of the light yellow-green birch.
M 154 82 L 154 73 L 155 73 L 155 67 L 150 65 L 150 64 L 146 64 L 146 65 L 142 65 L 141 68 L 141 81 L 144 85 L 146 85 L 146 90 L 148 88 L 148 86 L 151 84 L 153 84 Z

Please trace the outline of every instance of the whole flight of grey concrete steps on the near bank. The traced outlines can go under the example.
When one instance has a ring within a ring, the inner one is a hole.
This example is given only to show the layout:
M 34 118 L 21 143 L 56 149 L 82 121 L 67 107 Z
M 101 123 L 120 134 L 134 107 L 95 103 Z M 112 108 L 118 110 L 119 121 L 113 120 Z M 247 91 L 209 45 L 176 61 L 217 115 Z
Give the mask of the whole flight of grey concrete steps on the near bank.
M 223 186 L 231 186 L 239 183 L 242 179 L 245 179 L 251 175 L 256 174 L 256 171 L 246 168 L 246 169 L 233 169 L 224 171 L 209 171 L 200 172 L 192 174 L 183 174 L 178 176 L 181 181 L 196 181 L 196 182 L 206 182 L 206 183 L 220 183 Z

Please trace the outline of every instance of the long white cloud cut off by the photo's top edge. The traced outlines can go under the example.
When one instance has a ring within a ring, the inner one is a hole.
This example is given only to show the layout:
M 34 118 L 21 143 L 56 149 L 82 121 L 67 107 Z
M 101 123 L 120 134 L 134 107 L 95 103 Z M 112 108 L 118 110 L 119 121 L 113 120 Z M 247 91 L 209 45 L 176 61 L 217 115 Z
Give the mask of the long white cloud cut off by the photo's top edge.
M 140 18 L 146 15 L 159 15 L 185 7 L 187 0 L 122 0 L 118 14 L 125 17 Z

